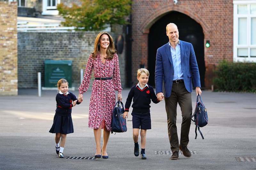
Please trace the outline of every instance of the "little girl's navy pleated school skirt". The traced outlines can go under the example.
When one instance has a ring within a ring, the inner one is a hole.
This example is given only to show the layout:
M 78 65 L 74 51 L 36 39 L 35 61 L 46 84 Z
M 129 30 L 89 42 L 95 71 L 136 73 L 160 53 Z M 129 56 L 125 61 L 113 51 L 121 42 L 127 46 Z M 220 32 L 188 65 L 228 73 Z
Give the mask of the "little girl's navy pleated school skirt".
M 74 127 L 71 116 L 54 115 L 50 133 L 69 134 L 74 133 Z

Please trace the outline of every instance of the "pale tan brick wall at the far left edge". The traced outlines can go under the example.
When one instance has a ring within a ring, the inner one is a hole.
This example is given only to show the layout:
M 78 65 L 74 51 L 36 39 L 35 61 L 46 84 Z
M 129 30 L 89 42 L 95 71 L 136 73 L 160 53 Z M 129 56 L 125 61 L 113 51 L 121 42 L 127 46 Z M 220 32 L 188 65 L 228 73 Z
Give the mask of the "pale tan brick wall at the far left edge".
M 17 95 L 17 4 L 0 1 L 0 11 L 0 95 Z

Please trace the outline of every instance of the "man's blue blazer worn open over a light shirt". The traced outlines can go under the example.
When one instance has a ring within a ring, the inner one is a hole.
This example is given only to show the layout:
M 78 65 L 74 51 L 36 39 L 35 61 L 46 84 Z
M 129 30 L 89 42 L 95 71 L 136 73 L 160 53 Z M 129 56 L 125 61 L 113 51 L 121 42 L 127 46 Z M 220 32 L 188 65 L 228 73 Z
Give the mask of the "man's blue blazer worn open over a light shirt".
M 196 62 L 196 55 L 191 43 L 180 41 L 180 60 L 183 71 L 184 83 L 188 92 L 192 92 L 192 76 L 195 87 L 201 87 L 200 75 Z M 164 93 L 164 97 L 170 97 L 173 83 L 173 63 L 169 42 L 157 49 L 156 53 L 156 94 Z

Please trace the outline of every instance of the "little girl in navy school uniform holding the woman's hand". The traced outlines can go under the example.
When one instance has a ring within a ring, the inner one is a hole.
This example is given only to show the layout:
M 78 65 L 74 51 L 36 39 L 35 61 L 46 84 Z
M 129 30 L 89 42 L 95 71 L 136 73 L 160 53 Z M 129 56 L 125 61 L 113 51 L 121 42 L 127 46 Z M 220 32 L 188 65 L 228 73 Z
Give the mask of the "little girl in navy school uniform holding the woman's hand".
M 68 92 L 68 81 L 60 79 L 57 83 L 59 93 L 56 95 L 56 110 L 53 118 L 50 133 L 55 133 L 55 148 L 59 158 L 64 158 L 63 150 L 66 143 L 66 137 L 69 133 L 74 133 L 71 117 L 72 107 L 80 104 L 75 94 Z M 61 138 L 61 141 L 60 141 Z M 60 144 L 59 144 L 60 142 Z

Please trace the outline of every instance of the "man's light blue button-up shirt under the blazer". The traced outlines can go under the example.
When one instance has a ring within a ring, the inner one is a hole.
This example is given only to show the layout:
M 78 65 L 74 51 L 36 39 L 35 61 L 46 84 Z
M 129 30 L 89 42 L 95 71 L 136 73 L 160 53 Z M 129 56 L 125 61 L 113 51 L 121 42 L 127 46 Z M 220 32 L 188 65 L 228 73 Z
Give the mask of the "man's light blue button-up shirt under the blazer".
M 183 72 L 181 69 L 181 59 L 180 59 L 180 41 L 177 44 L 175 49 L 172 48 L 169 41 L 169 47 L 171 49 L 172 63 L 173 63 L 173 69 L 174 69 L 173 80 L 183 79 Z

